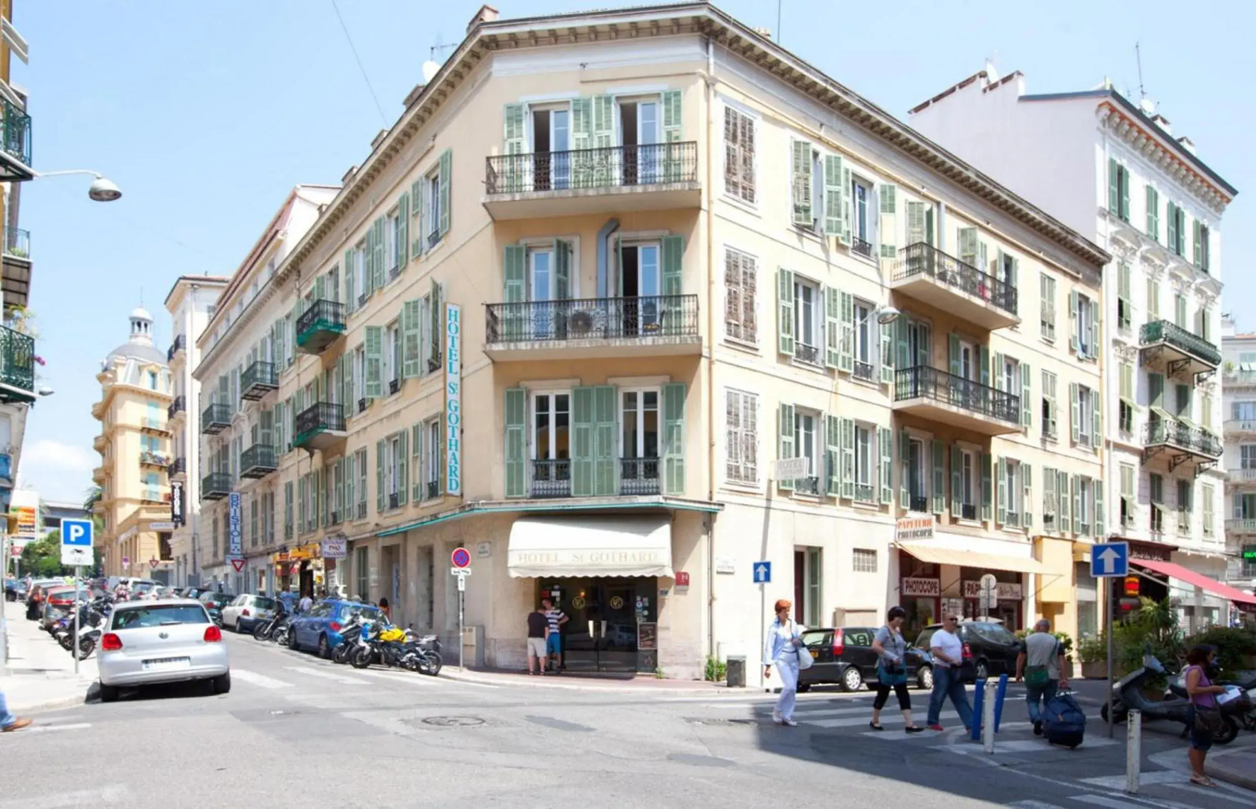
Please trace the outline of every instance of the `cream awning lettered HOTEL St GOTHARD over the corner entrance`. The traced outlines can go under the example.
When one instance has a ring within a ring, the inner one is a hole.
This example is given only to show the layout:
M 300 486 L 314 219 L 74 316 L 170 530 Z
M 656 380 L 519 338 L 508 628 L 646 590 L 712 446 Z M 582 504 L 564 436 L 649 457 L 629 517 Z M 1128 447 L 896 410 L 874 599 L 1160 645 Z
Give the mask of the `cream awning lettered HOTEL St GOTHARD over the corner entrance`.
M 515 578 L 672 575 L 672 520 L 651 516 L 519 518 L 506 567 Z

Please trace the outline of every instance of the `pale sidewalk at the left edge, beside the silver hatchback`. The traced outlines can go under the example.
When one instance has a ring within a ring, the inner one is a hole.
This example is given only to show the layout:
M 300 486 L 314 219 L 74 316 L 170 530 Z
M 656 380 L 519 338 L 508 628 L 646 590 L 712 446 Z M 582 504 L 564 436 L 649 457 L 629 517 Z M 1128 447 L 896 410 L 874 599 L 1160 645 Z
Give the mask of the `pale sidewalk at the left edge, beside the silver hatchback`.
M 95 683 L 95 656 L 79 663 L 57 641 L 26 621 L 25 613 L 6 611 L 8 670 L 0 667 L 0 688 L 14 714 L 36 714 L 82 705 Z

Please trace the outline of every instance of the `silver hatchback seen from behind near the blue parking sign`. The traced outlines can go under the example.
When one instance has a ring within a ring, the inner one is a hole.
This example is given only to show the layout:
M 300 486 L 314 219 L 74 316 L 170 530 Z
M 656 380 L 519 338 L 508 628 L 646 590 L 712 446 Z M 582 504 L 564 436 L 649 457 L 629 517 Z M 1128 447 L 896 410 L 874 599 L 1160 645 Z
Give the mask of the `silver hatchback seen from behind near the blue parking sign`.
M 100 636 L 100 701 L 119 688 L 208 680 L 215 693 L 231 690 L 227 648 L 205 605 L 190 598 L 123 602 Z

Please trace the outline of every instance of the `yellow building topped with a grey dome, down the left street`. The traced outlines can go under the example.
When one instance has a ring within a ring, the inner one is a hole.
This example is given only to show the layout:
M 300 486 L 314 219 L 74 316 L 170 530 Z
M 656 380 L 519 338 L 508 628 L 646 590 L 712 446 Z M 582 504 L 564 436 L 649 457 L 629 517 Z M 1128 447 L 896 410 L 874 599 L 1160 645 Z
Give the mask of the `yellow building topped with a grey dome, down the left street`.
M 100 487 L 94 511 L 103 519 L 97 544 L 104 549 L 104 574 L 170 582 L 172 397 L 152 325 L 143 308 L 132 312 L 129 340 L 103 361 L 95 377 L 100 401 L 92 406 L 92 416 L 100 422 L 100 435 L 93 447 L 102 462 L 92 480 Z

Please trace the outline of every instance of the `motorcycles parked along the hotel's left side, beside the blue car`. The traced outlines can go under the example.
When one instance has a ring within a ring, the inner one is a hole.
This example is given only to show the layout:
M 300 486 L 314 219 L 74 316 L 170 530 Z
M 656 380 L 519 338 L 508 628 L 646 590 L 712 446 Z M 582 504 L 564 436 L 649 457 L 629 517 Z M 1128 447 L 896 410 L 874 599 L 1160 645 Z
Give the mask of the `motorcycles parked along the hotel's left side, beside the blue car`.
M 299 617 L 300 613 L 276 611 L 270 618 L 257 622 L 252 637 L 296 651 L 293 621 Z M 319 651 L 335 663 L 348 663 L 354 668 L 379 665 L 431 677 L 441 673 L 441 667 L 445 665 L 441 657 L 441 642 L 435 634 L 420 636 L 412 629 L 391 624 L 382 614 L 368 617 L 354 613 L 335 634 L 339 636 L 339 641 L 319 644 Z

